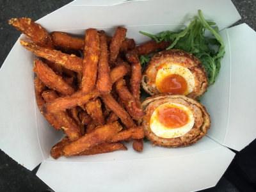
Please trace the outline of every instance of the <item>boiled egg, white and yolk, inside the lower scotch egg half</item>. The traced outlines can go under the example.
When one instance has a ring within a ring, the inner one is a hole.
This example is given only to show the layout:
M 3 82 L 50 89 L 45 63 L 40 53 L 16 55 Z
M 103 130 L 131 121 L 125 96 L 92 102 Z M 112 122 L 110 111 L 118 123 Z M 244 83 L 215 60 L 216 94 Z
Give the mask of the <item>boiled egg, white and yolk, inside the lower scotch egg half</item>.
M 158 106 L 150 117 L 150 129 L 161 138 L 177 138 L 192 129 L 195 118 L 191 110 L 167 102 Z

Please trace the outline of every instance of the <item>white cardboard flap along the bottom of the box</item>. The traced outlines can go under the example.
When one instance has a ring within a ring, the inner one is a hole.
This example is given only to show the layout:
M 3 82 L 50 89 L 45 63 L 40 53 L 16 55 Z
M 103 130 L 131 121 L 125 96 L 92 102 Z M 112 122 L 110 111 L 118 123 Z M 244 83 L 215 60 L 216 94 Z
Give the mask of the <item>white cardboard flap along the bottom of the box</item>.
M 191 154 L 172 156 L 175 149 L 162 147 L 169 156 L 154 156 L 150 145 L 145 143 L 143 153 L 136 156 L 151 153 L 151 158 L 122 160 L 118 158 L 122 152 L 116 151 L 110 153 L 109 161 L 99 161 L 109 154 L 96 155 L 98 161 L 44 161 L 36 175 L 54 191 L 196 191 L 215 186 L 234 157 L 228 148 L 207 137 L 195 143 L 198 150 Z M 207 145 L 207 150 L 202 151 L 200 145 Z

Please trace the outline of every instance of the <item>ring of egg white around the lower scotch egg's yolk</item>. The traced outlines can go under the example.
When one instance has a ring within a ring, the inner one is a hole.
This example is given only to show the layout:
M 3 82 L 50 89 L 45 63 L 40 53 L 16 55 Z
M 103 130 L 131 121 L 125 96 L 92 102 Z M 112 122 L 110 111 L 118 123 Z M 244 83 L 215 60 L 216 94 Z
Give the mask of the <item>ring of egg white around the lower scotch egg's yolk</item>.
M 163 124 L 161 124 L 161 122 L 159 122 L 158 119 L 159 110 L 162 108 L 179 108 L 182 111 L 185 111 L 185 113 L 188 114 L 188 123 L 175 129 L 165 127 Z M 154 134 L 161 138 L 177 138 L 189 132 L 192 129 L 194 122 L 195 118 L 188 107 L 182 104 L 167 102 L 158 106 L 152 113 L 150 118 L 150 129 L 152 132 L 154 132 Z

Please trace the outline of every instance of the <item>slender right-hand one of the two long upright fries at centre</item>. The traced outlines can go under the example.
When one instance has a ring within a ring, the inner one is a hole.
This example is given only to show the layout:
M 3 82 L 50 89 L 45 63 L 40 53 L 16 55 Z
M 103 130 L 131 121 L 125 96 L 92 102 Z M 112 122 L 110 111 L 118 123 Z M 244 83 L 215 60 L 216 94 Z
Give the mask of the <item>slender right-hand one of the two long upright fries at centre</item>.
M 104 31 L 100 34 L 100 58 L 98 64 L 98 79 L 96 87 L 100 93 L 106 94 L 111 91 L 110 68 L 108 65 L 108 45 L 106 43 L 106 35 Z

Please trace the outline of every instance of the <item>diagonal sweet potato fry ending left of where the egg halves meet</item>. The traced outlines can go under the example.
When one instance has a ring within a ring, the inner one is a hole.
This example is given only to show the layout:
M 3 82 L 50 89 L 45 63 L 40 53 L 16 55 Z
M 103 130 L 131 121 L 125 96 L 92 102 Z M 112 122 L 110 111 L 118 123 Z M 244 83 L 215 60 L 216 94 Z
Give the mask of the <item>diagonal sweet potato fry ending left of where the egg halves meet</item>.
M 145 112 L 141 108 L 138 108 L 136 100 L 125 87 L 124 79 L 119 79 L 116 82 L 116 92 L 118 93 L 120 99 L 123 100 L 125 108 L 133 119 L 140 120 L 145 115 Z

